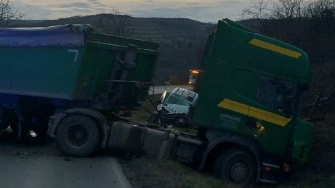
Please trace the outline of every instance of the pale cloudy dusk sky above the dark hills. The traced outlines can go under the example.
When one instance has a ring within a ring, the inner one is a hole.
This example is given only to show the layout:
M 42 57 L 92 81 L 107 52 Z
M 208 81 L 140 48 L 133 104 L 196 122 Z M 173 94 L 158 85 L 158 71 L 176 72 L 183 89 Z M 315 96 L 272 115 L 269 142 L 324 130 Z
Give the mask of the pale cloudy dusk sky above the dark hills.
M 109 13 L 114 6 L 136 17 L 191 18 L 203 22 L 240 19 L 243 8 L 256 0 L 12 0 L 27 19 L 57 19 Z

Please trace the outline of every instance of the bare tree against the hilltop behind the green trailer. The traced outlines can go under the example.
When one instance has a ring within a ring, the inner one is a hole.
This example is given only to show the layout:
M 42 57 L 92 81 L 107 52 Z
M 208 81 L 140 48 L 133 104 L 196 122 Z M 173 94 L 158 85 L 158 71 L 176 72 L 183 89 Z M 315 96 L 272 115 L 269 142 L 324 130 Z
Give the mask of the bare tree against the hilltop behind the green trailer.
M 130 17 L 130 15 L 122 13 L 115 7 L 112 7 L 111 13 L 100 15 L 96 24 L 107 33 L 118 36 L 129 36 L 130 34 L 126 32 L 126 27 Z

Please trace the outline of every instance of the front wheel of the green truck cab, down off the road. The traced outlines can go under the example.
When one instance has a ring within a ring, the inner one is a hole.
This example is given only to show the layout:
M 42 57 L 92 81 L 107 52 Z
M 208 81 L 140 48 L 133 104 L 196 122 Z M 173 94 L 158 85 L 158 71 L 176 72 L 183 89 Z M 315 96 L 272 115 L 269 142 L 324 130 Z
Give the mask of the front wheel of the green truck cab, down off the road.
M 216 159 L 213 170 L 219 178 L 241 187 L 252 184 L 257 172 L 253 156 L 239 149 L 222 153 Z

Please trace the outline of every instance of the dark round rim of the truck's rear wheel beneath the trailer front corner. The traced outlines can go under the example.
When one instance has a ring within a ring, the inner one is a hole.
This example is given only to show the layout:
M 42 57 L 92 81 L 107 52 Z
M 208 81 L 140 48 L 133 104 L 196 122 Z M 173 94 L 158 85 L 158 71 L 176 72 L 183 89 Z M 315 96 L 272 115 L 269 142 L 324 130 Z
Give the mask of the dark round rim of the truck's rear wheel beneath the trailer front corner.
M 67 143 L 72 147 L 82 147 L 88 141 L 88 129 L 79 123 L 71 124 L 66 136 Z

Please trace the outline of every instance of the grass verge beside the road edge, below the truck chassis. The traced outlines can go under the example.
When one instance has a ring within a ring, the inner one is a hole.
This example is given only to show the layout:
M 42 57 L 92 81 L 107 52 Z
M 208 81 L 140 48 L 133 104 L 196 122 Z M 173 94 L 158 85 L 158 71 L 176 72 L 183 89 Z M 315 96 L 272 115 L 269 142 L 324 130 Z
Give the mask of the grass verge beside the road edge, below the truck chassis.
M 202 174 L 174 161 L 142 156 L 120 160 L 126 176 L 134 188 L 233 188 L 221 180 Z

